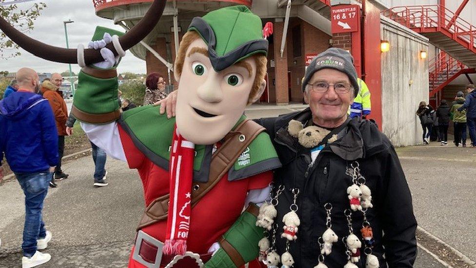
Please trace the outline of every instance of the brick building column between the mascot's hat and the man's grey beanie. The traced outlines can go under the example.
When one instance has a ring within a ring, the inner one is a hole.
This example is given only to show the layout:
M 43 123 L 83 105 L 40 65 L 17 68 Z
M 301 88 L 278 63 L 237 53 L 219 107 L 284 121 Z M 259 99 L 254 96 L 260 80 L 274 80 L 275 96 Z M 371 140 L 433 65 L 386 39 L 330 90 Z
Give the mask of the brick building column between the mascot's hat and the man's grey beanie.
M 286 105 L 289 103 L 289 83 L 288 83 L 288 53 L 284 49 L 281 57 L 281 39 L 284 22 L 274 23 L 274 60 L 275 60 L 275 88 L 276 88 L 276 104 Z

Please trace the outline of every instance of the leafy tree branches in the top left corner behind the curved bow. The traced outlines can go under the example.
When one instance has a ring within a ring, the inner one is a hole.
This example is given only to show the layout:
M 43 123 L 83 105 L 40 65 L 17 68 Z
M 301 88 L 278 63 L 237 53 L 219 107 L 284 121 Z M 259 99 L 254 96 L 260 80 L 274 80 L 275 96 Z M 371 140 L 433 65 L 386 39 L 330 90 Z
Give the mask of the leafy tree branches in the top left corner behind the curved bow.
M 7 0 L 0 0 L 0 4 Z M 34 3 L 29 8 L 19 9 L 16 4 L 0 5 L 0 16 L 21 32 L 33 29 L 33 21 L 40 16 L 40 11 L 46 7 L 45 3 Z M 18 45 L 11 41 L 3 32 L 0 32 L 0 59 L 13 58 L 20 55 Z

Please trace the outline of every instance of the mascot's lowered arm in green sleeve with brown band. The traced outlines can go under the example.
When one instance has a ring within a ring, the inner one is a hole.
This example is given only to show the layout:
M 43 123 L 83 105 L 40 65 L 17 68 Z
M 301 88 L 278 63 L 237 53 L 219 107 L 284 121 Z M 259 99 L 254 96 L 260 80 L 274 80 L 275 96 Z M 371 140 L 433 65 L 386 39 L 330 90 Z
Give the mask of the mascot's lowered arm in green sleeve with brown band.
M 256 226 L 259 207 L 251 203 L 222 236 L 220 248 L 205 264 L 207 268 L 237 268 L 258 257 L 258 241 L 264 229 Z

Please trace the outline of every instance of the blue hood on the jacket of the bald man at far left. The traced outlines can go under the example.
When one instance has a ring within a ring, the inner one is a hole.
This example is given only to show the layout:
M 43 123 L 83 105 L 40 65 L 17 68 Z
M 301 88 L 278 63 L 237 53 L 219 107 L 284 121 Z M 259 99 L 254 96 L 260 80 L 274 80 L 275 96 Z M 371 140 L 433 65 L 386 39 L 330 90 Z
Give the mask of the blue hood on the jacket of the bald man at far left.
M 26 93 L 28 94 L 28 93 Z M 27 110 L 40 102 L 47 101 L 38 94 L 32 96 L 15 95 L 0 101 L 0 114 L 7 118 L 21 118 L 27 114 Z

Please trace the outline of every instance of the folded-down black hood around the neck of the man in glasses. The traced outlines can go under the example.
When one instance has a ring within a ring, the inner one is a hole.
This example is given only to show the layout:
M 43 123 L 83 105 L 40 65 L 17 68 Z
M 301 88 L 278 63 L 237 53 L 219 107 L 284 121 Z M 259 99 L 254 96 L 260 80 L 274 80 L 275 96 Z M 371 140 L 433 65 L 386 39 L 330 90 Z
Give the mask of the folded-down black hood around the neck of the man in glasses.
M 287 131 L 288 123 L 295 119 L 305 124 L 311 117 L 310 108 L 283 116 L 277 121 L 279 130 L 275 140 L 279 139 L 281 143 L 290 148 L 295 147 L 297 150 L 295 139 Z M 370 121 L 358 121 L 357 118 L 354 118 L 344 124 L 347 126 L 337 134 L 337 140 L 326 146 L 324 150 L 330 149 L 342 159 L 354 161 L 380 153 L 391 146 L 388 138 L 378 130 L 376 124 Z

